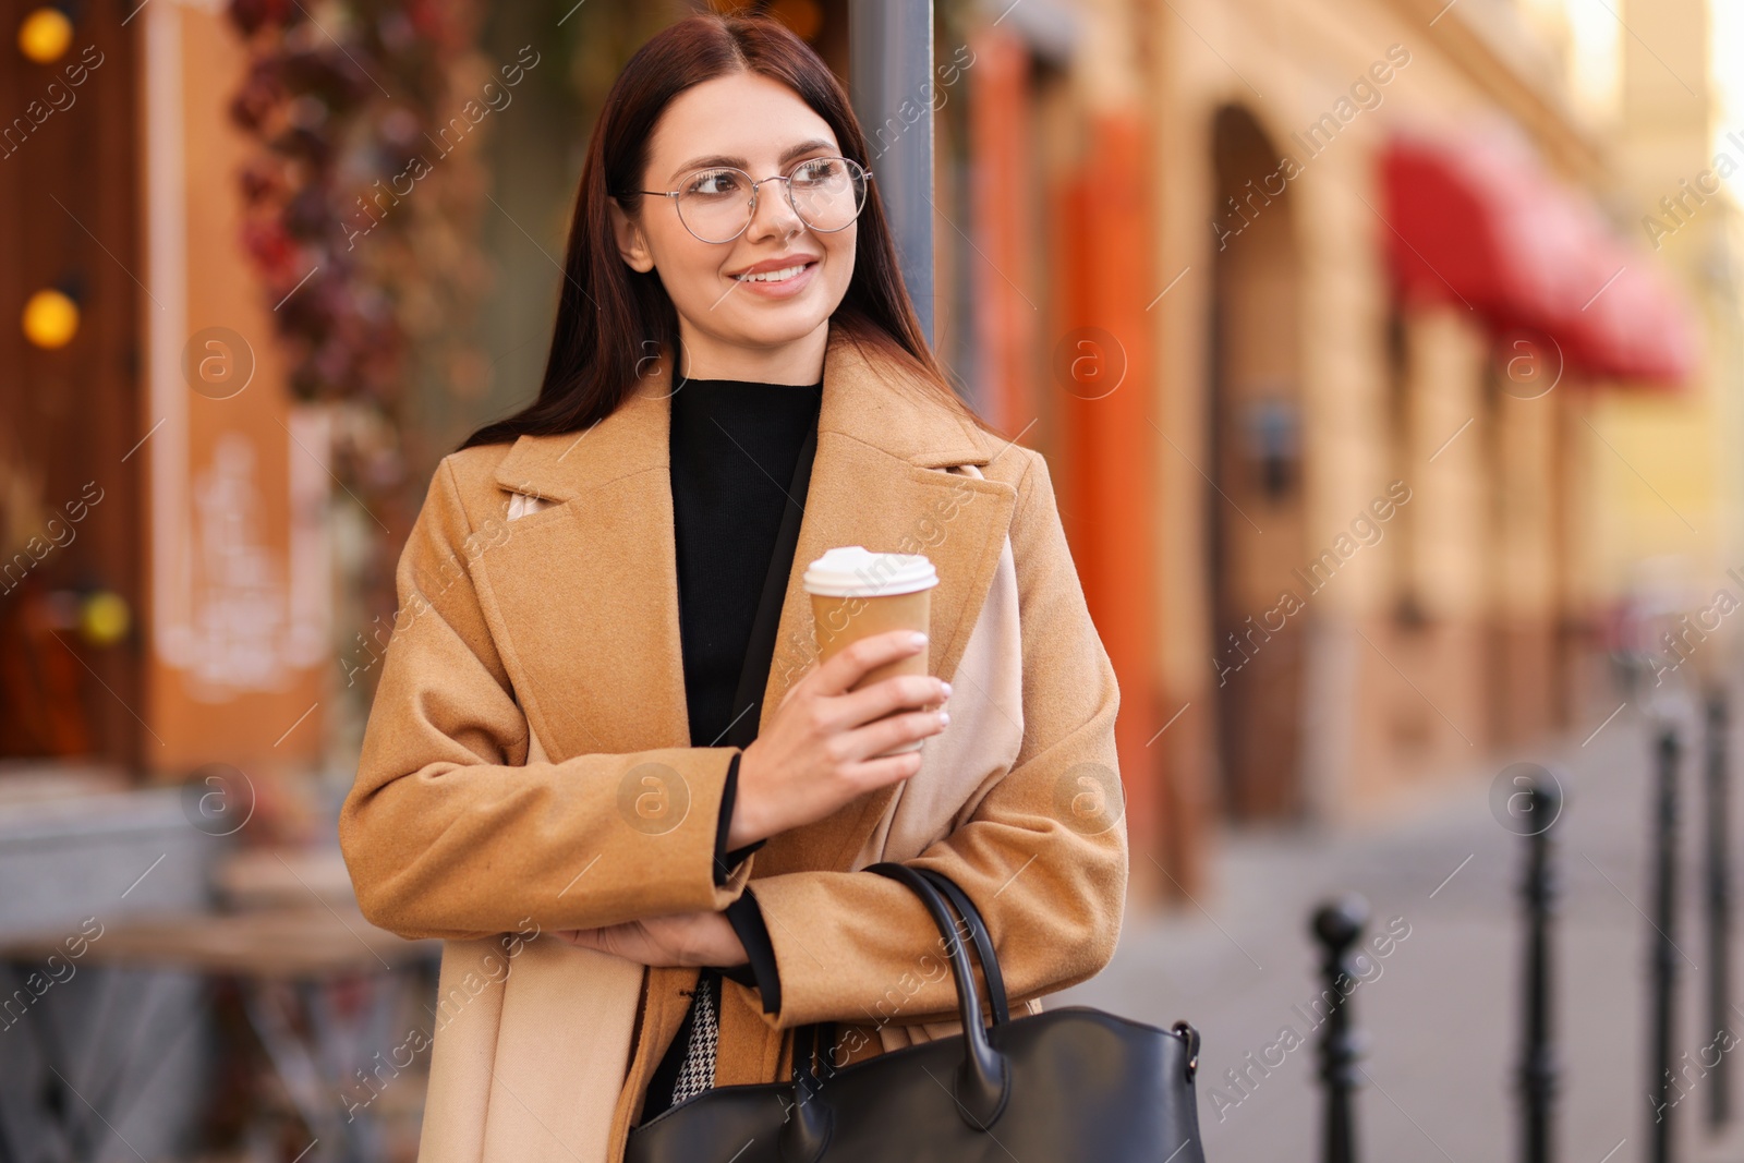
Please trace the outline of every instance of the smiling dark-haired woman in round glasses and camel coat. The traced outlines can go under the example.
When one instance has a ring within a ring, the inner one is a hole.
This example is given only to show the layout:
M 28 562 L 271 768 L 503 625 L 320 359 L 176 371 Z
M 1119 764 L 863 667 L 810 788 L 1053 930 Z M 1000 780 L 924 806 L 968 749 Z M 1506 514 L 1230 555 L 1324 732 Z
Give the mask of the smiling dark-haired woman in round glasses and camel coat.
M 446 940 L 426 1163 L 619 1160 L 785 1078 L 797 1025 L 837 1024 L 832 1064 L 959 1029 L 877 860 L 963 886 L 1029 1011 L 1113 954 L 1114 673 L 1046 464 L 950 391 L 867 164 L 778 23 L 654 37 L 537 401 L 431 481 L 340 816 L 364 915 Z M 853 544 L 933 561 L 928 675 L 853 690 L 907 633 L 816 664 L 800 574 Z

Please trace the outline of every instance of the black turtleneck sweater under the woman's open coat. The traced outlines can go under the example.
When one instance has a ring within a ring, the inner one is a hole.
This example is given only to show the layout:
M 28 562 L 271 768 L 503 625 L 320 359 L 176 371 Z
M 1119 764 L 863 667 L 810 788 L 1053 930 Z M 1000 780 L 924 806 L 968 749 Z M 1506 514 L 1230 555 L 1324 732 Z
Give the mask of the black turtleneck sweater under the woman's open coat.
M 788 385 L 746 380 L 680 380 L 671 396 L 671 502 L 678 560 L 678 633 L 684 649 L 684 692 L 691 746 L 726 746 L 727 729 L 760 706 L 732 704 L 745 664 L 752 622 L 769 575 L 771 554 L 790 497 L 794 469 L 806 434 L 816 429 L 823 384 Z M 776 563 L 785 579 L 788 560 Z M 764 684 L 757 682 L 759 697 Z M 741 731 L 745 727 L 741 725 Z M 738 758 L 727 771 L 715 840 L 715 882 L 748 853 L 726 851 L 727 823 L 738 790 Z M 750 954 L 750 966 L 703 969 L 713 996 L 719 978 L 755 985 L 767 1013 L 781 1006 L 774 950 L 757 901 L 746 889 L 727 919 Z M 701 989 L 701 982 L 699 982 Z M 689 1051 L 696 1006 L 685 1015 L 671 1048 L 649 1081 L 642 1121 L 671 1104 L 673 1083 Z

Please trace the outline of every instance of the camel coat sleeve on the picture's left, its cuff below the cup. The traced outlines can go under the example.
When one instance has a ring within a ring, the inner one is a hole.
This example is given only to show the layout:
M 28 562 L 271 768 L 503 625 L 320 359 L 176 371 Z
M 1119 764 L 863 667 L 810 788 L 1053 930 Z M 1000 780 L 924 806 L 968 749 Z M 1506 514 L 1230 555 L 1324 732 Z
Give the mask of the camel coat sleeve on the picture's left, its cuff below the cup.
M 473 586 L 480 537 L 443 460 L 399 558 L 394 635 L 338 818 L 363 915 L 406 938 L 467 940 L 726 908 L 752 867 L 715 875 L 738 748 L 528 762 L 527 717 Z M 673 788 L 689 799 L 678 821 L 640 811 Z

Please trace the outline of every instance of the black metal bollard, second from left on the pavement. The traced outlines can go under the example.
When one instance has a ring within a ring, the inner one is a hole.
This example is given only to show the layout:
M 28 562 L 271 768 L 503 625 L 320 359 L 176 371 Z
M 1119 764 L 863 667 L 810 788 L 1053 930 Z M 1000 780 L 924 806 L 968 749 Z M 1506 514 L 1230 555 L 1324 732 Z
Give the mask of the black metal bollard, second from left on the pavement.
M 1554 779 L 1533 779 L 1528 790 L 1533 821 L 1543 821 L 1528 835 L 1526 881 L 1526 1037 L 1521 1048 L 1521 1104 L 1524 1107 L 1523 1158 L 1526 1163 L 1550 1163 L 1550 1102 L 1556 1097 L 1557 1064 L 1550 1041 L 1550 915 L 1556 912 L 1556 868 L 1550 863 L 1550 825 L 1563 809 L 1563 793 Z

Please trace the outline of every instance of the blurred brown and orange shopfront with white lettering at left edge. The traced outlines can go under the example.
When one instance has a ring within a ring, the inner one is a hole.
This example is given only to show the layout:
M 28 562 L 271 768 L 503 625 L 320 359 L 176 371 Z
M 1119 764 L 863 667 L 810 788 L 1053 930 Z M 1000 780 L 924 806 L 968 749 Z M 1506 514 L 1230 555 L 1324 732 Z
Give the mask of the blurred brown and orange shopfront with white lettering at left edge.
M 5 5 L 9 38 L 42 10 Z M 127 16 L 101 5 L 65 51 L 0 70 L 9 108 L 56 110 L 0 180 L 23 321 L 0 340 L 0 758 L 303 771 L 333 657 L 331 483 L 241 244 L 248 59 L 211 5 Z M 58 335 L 33 330 L 45 293 L 73 305 Z

